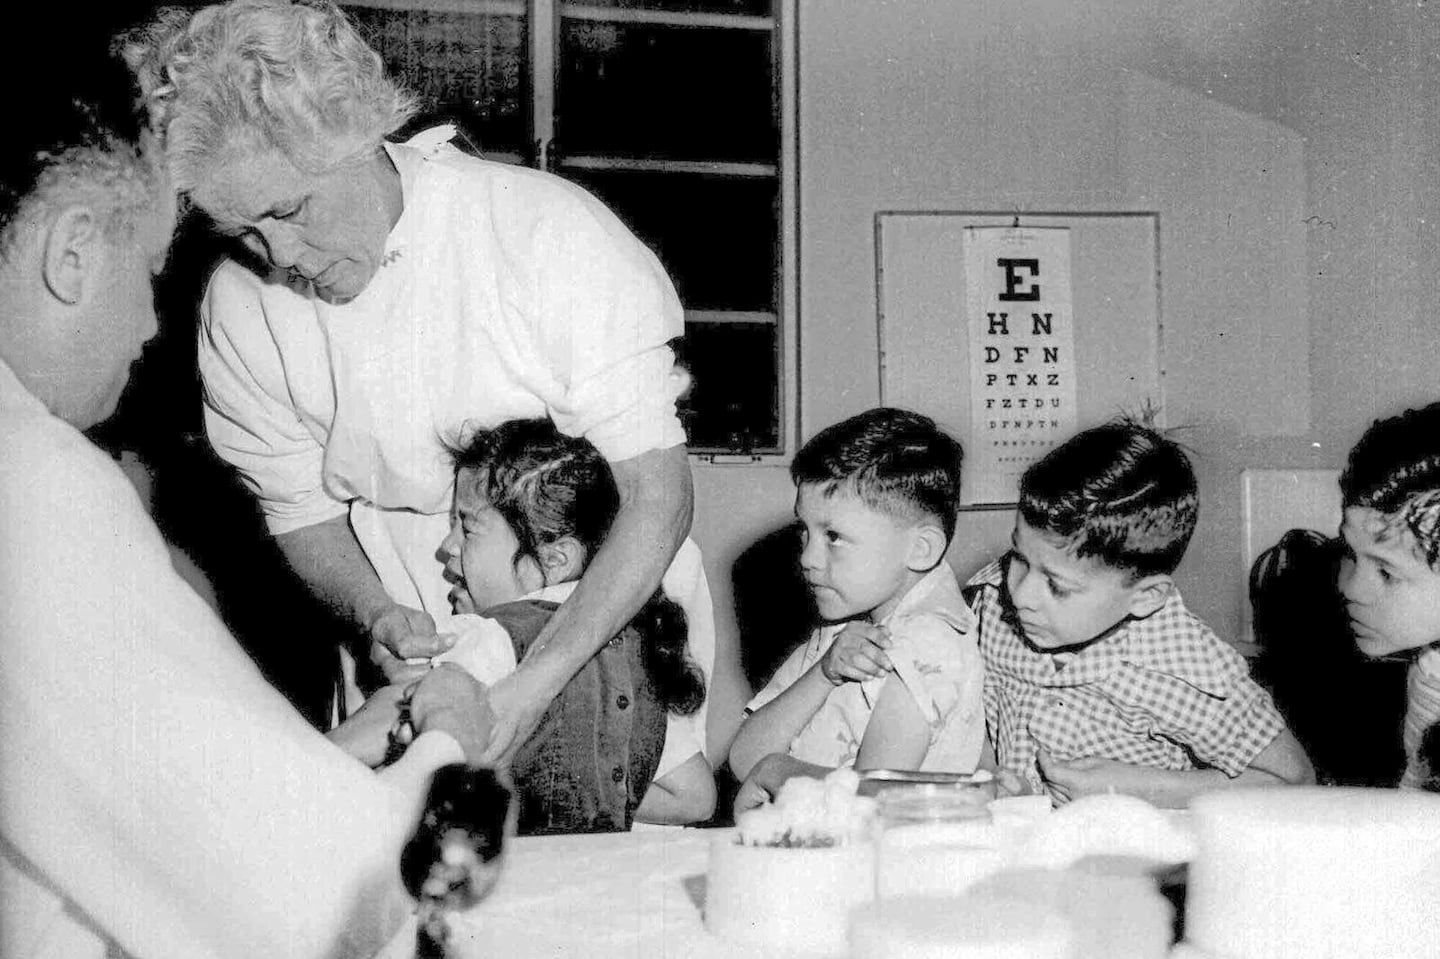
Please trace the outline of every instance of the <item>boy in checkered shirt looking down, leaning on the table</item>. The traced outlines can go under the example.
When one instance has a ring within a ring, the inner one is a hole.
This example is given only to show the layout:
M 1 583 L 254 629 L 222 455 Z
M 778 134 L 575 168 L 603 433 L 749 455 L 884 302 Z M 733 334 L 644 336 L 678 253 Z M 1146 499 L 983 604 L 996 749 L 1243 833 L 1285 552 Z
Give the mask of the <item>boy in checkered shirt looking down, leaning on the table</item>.
M 1175 587 L 1195 515 L 1188 458 L 1135 422 L 1087 429 L 1025 471 L 1011 550 L 966 589 L 1002 791 L 1178 808 L 1313 780 L 1244 658 Z

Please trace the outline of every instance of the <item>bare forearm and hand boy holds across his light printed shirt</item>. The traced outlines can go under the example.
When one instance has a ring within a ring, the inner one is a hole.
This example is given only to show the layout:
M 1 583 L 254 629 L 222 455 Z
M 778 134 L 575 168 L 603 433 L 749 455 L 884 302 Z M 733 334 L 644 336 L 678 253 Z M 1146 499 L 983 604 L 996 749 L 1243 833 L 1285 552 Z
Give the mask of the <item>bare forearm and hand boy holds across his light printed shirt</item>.
M 736 778 L 749 776 L 755 765 L 770 753 L 789 752 L 791 740 L 799 736 L 837 685 L 893 670 L 886 655 L 888 647 L 884 629 L 858 622 L 847 625 L 815 665 L 740 724 L 730 744 L 730 770 Z

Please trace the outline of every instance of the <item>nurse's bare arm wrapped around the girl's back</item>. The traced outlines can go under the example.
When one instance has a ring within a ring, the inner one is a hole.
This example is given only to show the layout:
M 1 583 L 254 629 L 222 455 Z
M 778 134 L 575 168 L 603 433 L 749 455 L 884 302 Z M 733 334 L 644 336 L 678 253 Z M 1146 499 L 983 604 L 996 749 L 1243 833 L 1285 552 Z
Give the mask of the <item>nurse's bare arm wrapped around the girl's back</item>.
M 694 490 L 684 446 L 611 464 L 621 508 L 579 585 L 490 694 L 495 731 L 487 762 L 507 760 L 540 724 L 570 677 L 619 632 L 660 586 L 690 533 Z

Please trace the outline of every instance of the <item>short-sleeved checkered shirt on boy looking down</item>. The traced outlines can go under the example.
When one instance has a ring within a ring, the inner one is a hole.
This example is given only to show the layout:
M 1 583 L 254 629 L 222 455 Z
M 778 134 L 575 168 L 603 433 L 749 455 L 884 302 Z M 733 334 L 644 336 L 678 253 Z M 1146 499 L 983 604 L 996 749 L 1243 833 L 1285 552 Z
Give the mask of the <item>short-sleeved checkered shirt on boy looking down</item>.
M 1060 762 L 1096 756 L 1238 776 L 1284 729 L 1244 658 L 1185 608 L 1179 590 L 1145 619 L 1057 657 L 1030 645 L 1004 615 L 1005 569 L 1005 560 L 991 563 L 966 592 L 996 760 L 1034 789 L 1044 788 L 1038 749 Z

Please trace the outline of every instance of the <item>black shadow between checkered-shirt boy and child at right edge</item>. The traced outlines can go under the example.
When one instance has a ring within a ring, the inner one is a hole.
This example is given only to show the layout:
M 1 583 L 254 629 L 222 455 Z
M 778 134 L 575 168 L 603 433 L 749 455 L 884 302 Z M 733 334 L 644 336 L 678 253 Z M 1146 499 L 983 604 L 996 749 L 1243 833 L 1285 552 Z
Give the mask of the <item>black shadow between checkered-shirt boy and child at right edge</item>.
M 1336 589 L 1339 540 L 1290 530 L 1250 569 L 1260 655 L 1270 690 L 1323 785 L 1394 786 L 1405 767 L 1403 659 L 1355 648 Z

